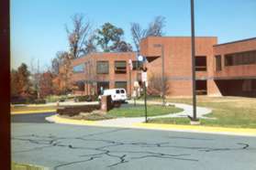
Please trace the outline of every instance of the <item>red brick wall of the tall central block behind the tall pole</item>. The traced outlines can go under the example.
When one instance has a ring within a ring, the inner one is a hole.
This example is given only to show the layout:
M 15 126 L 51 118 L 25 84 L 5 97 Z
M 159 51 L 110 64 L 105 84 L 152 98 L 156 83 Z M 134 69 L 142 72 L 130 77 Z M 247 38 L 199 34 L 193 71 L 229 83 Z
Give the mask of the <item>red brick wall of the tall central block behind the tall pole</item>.
M 164 46 L 165 76 L 167 77 L 169 96 L 192 95 L 191 84 L 191 38 L 190 37 L 147 37 L 140 43 L 142 56 L 159 58 L 148 64 L 150 74 L 161 75 L 161 48 Z M 195 55 L 206 56 L 207 71 L 196 72 L 198 80 L 207 80 L 213 77 L 213 45 L 217 44 L 217 37 L 195 37 Z M 214 81 L 207 82 L 209 95 L 217 95 L 219 91 Z M 150 84 L 150 82 L 149 82 Z

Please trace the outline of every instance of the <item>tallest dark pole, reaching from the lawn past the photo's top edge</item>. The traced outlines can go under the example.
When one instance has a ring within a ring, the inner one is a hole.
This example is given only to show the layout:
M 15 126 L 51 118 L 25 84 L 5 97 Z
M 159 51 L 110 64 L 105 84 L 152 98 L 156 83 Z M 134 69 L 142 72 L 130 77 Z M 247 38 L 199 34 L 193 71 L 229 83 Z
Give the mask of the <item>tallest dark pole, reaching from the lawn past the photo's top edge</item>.
M 193 93 L 193 118 L 192 122 L 197 122 L 196 119 L 196 94 L 195 94 L 195 16 L 194 16 L 194 0 L 191 0 L 191 57 L 192 57 L 192 93 Z

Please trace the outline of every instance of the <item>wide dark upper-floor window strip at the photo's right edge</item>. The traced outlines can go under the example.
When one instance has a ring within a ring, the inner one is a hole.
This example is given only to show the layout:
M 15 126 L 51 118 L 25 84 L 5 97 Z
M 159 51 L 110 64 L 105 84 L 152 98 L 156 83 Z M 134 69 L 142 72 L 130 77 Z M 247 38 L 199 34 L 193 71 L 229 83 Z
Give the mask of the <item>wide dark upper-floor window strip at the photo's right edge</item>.
M 256 64 L 256 50 L 225 55 L 225 66 Z

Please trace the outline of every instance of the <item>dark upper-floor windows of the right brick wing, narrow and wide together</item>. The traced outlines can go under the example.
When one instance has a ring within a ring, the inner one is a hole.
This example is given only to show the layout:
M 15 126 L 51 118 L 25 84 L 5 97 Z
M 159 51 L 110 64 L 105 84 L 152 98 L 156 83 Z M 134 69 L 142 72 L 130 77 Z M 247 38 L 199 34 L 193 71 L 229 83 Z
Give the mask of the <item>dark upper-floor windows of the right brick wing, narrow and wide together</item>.
M 240 53 L 227 54 L 224 56 L 225 66 L 239 66 L 239 65 L 250 65 L 256 64 L 256 50 L 246 51 Z M 216 70 L 222 69 L 221 56 L 218 55 L 216 59 Z

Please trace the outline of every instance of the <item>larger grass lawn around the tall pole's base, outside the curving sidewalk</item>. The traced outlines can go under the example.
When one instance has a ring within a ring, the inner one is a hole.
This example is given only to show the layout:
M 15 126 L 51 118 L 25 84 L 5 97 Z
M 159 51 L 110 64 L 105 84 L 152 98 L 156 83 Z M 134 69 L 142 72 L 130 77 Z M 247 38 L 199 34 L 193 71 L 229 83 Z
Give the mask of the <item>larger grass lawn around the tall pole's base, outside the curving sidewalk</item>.
M 158 101 L 161 99 L 151 99 Z M 170 102 L 181 102 L 191 104 L 189 98 L 167 99 Z M 213 112 L 208 117 L 217 118 L 217 120 L 201 120 L 202 125 L 237 127 L 237 128 L 256 128 L 256 99 L 242 97 L 206 97 L 198 96 L 197 105 L 211 108 Z M 165 118 L 150 120 L 158 123 L 189 124 L 187 118 Z

